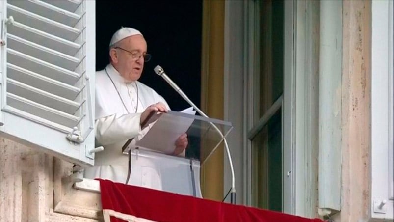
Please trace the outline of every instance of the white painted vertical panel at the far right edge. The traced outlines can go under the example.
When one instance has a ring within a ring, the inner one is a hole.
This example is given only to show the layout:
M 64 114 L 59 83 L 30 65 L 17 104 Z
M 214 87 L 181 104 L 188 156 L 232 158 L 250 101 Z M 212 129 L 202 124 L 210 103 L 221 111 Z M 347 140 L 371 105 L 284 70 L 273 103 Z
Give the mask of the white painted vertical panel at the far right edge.
M 371 218 L 393 219 L 393 1 L 372 1 Z M 382 201 L 386 203 L 380 207 Z

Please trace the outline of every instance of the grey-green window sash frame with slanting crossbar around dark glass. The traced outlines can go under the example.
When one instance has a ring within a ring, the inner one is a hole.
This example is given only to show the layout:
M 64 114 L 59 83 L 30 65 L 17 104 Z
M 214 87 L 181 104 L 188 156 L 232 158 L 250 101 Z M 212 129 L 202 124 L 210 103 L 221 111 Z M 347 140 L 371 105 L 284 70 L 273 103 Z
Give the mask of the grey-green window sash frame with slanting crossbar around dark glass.
M 282 144 L 281 144 L 281 149 L 282 149 L 282 176 L 285 175 L 285 173 L 288 170 L 285 170 L 285 160 L 288 160 L 288 158 L 292 158 L 290 153 L 290 150 L 285 150 L 285 142 L 286 143 L 291 143 L 291 138 L 287 138 L 284 135 L 284 118 L 285 116 L 285 111 L 284 110 L 284 96 L 285 96 L 285 88 L 283 89 L 282 95 L 273 103 L 271 106 L 268 108 L 267 111 L 264 112 L 263 116 L 259 118 L 259 120 L 256 121 L 256 107 L 255 107 L 255 102 L 256 102 L 256 95 L 255 93 L 258 93 L 260 91 L 259 85 L 256 83 L 259 83 L 259 57 L 258 57 L 258 52 L 256 52 L 256 49 L 259 49 L 259 41 L 260 41 L 260 35 L 258 33 L 258 30 L 260 28 L 259 24 L 259 6 L 257 5 L 258 1 L 248 1 L 247 5 L 245 7 L 245 17 L 244 20 L 247 21 L 245 24 L 245 29 L 247 39 L 244 43 L 244 48 L 246 49 L 246 55 L 247 55 L 247 61 L 245 61 L 246 64 L 246 75 L 245 75 L 245 81 L 244 81 L 244 95 L 247 96 L 246 100 L 246 107 L 247 111 L 244 111 L 245 115 L 245 121 L 247 122 L 246 127 L 245 127 L 245 135 L 244 135 L 244 140 L 246 141 L 246 147 L 245 149 L 245 162 L 244 163 L 247 166 L 248 171 L 246 172 L 246 175 L 244 178 L 246 178 L 246 184 L 247 187 L 245 189 L 245 196 L 246 196 L 246 204 L 247 205 L 252 205 L 253 204 L 253 196 L 252 194 L 252 140 L 255 138 L 257 134 L 259 134 L 264 126 L 268 123 L 270 118 L 278 111 L 279 109 L 282 109 L 282 120 L 281 120 L 281 128 L 282 128 Z M 284 41 L 287 41 L 289 39 L 286 38 L 286 25 L 289 23 L 292 23 L 292 16 L 288 17 L 286 14 L 286 10 L 289 8 L 289 4 L 292 5 L 292 2 L 289 1 L 284 1 Z M 290 6 L 292 7 L 292 6 Z M 292 10 L 292 8 L 291 8 Z M 285 43 L 286 45 L 286 43 Z M 284 49 L 284 53 L 286 52 L 286 49 Z M 284 87 L 287 85 L 285 81 L 288 81 L 286 79 L 286 54 L 284 55 L 284 74 L 283 74 L 283 81 L 284 81 Z M 286 103 L 287 106 L 291 107 L 290 101 L 287 101 Z M 285 106 L 286 106 L 285 105 Z M 292 148 L 290 148 L 292 149 Z M 290 165 L 288 167 L 292 168 L 292 161 L 289 162 Z M 291 170 L 290 170 L 291 171 Z M 292 176 L 290 176 L 292 178 Z M 286 184 L 285 184 L 286 183 Z M 292 181 L 285 181 L 282 179 L 282 211 L 291 213 L 289 209 L 292 209 L 293 203 L 291 201 L 285 201 L 286 199 L 292 199 L 292 191 L 289 191 L 287 187 L 292 186 L 291 185 Z

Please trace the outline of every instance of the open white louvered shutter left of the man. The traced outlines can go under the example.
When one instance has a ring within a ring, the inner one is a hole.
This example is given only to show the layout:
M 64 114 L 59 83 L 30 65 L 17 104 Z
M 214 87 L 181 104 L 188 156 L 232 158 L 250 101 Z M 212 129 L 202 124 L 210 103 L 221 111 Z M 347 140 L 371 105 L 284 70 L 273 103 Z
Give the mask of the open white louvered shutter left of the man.
M 95 1 L 0 4 L 1 133 L 94 164 Z

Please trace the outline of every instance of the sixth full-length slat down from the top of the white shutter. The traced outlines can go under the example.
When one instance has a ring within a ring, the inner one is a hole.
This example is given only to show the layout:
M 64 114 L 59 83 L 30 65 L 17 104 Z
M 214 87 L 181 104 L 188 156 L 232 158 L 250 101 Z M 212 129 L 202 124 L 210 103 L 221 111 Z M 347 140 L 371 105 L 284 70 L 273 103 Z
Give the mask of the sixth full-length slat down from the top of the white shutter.
M 51 107 L 55 110 L 66 112 L 71 115 L 74 115 L 74 113 L 80 107 L 80 104 L 77 102 L 53 95 L 44 90 L 32 87 L 10 78 L 7 78 L 7 91 L 33 102 Z

